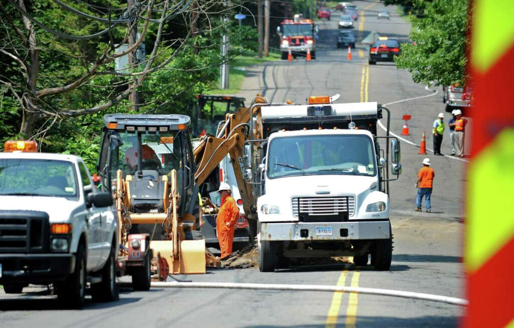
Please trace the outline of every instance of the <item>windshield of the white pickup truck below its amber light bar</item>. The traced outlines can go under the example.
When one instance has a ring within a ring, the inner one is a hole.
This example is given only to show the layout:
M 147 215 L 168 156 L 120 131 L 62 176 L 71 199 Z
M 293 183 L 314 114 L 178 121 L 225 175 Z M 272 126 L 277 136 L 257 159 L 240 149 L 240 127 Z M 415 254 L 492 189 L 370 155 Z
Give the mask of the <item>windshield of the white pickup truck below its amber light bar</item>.
M 59 160 L 0 159 L 0 195 L 77 199 L 74 165 Z

